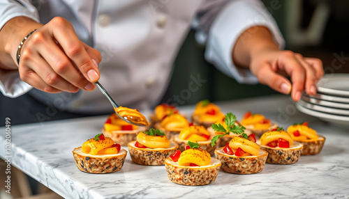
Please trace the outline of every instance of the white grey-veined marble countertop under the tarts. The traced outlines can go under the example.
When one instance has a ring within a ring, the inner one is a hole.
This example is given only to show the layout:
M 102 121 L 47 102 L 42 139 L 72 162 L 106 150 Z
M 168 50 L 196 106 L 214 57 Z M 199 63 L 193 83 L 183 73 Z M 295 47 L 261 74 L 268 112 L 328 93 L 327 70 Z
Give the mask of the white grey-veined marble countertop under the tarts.
M 205 186 L 174 184 L 165 166 L 140 166 L 129 154 L 116 173 L 83 173 L 75 166 L 72 150 L 101 132 L 107 116 L 97 116 L 11 126 L 11 164 L 64 198 L 349 198 L 348 129 L 300 113 L 289 97 L 216 104 L 238 120 L 248 110 L 284 128 L 307 120 L 318 134 L 326 136 L 325 146 L 320 154 L 302 156 L 296 164 L 266 164 L 253 175 L 220 170 L 216 181 Z M 193 106 L 180 109 L 190 115 Z M 0 132 L 0 142 L 5 143 L 5 127 Z M 4 147 L 0 157 L 6 158 Z

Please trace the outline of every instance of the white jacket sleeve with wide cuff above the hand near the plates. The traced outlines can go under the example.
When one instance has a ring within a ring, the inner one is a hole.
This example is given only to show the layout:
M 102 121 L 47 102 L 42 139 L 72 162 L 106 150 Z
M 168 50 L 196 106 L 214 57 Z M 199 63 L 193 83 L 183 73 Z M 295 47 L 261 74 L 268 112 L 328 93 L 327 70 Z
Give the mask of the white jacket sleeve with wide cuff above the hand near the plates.
M 279 48 L 284 47 L 274 18 L 258 0 L 205 1 L 193 22 L 196 40 L 206 43 L 206 60 L 239 83 L 258 83 L 247 68 L 236 67 L 231 57 L 239 35 L 252 26 L 267 27 Z

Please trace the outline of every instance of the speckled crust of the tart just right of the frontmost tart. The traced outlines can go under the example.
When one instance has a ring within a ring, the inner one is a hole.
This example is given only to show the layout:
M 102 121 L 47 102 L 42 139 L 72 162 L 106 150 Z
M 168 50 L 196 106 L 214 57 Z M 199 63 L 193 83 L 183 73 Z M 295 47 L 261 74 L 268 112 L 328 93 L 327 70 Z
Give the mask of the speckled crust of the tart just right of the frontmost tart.
M 222 170 L 237 174 L 259 173 L 268 157 L 268 152 L 265 150 L 260 150 L 258 155 L 237 157 L 223 152 L 223 147 L 216 149 L 214 154 L 222 162 Z

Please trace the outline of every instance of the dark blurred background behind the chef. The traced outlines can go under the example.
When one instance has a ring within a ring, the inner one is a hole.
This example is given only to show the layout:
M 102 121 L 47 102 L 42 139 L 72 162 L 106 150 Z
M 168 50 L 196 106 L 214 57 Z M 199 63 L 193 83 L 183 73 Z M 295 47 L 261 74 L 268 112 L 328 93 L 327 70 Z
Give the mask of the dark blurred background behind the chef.
M 320 58 L 325 73 L 349 72 L 349 1 L 341 0 L 263 0 L 265 7 L 276 19 L 286 40 L 285 49 L 303 56 Z M 207 79 L 198 92 L 181 99 L 180 105 L 195 104 L 200 100 L 237 100 L 262 95 L 283 95 L 261 84 L 239 84 L 207 63 L 205 47 L 195 42 L 191 31 L 181 47 L 171 83 L 163 102 L 183 95 L 188 88 L 191 74 Z

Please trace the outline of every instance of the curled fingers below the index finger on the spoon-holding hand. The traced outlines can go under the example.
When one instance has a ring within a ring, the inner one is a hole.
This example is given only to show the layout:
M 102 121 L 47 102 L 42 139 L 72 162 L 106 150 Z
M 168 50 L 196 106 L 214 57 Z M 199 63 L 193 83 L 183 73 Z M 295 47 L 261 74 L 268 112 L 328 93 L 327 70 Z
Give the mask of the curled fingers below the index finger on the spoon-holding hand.
M 27 45 L 31 47 L 25 46 L 24 51 L 34 51 L 37 59 L 32 69 L 49 85 L 67 92 L 94 89 L 93 83 L 77 70 L 45 28 L 38 30 Z

